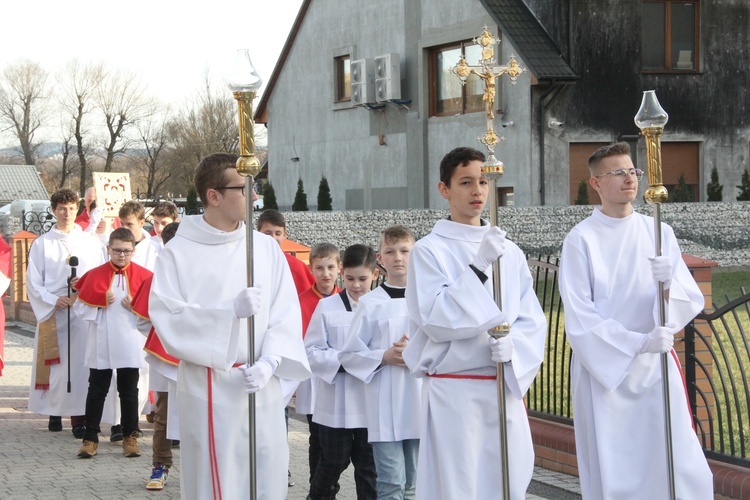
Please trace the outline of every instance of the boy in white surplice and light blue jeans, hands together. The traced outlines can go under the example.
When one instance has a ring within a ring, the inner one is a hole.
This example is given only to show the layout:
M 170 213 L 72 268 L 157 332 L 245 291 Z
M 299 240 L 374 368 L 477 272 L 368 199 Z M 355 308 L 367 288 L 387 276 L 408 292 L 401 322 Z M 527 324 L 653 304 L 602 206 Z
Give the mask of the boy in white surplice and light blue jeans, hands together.
M 362 297 L 351 334 L 339 353 L 347 373 L 365 382 L 367 436 L 378 479 L 378 500 L 414 498 L 422 382 L 402 358 L 409 341 L 404 292 L 414 235 L 404 226 L 380 234 L 378 260 L 388 279 Z

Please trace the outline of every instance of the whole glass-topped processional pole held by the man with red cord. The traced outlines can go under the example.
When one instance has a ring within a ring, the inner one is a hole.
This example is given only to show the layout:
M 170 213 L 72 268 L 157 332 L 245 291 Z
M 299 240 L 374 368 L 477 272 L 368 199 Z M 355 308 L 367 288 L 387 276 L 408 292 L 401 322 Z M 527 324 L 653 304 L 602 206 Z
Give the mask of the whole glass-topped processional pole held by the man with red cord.
M 245 220 L 245 242 L 247 251 L 247 286 L 253 286 L 253 178 L 260 172 L 260 161 L 255 156 L 253 127 L 253 99 L 263 84 L 255 70 L 247 49 L 237 51 L 233 73 L 228 86 L 237 100 L 239 110 L 240 157 L 237 159 L 237 173 L 245 177 L 245 200 L 247 203 Z M 255 319 L 247 318 L 247 363 L 255 363 Z M 256 418 L 255 394 L 248 394 L 249 407 L 249 447 L 250 447 L 250 500 L 256 500 L 257 460 L 256 460 Z

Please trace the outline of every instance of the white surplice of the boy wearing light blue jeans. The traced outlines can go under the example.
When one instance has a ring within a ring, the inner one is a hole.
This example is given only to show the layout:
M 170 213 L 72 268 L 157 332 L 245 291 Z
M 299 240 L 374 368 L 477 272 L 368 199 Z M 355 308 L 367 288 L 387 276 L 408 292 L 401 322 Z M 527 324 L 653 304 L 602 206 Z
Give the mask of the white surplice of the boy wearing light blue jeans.
M 419 439 L 421 379 L 406 367 L 381 364 L 385 351 L 408 333 L 406 299 L 391 298 L 379 286 L 359 300 L 339 360 L 347 373 L 365 382 L 371 443 Z

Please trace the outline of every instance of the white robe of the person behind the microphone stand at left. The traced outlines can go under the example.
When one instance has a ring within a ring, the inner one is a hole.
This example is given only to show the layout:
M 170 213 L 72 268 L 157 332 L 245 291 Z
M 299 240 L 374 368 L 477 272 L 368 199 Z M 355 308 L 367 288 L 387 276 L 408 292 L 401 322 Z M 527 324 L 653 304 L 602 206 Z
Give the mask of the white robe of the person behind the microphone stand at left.
M 55 309 L 57 298 L 68 293 L 68 278 L 71 268 L 70 256 L 78 257 L 76 276 L 104 262 L 99 240 L 74 226 L 70 233 L 62 233 L 53 227 L 31 245 L 26 275 L 26 291 L 37 323 L 55 315 L 57 343 L 60 363 L 50 366 L 48 390 L 34 389 L 36 364 L 32 363 L 29 410 L 42 415 L 77 416 L 86 413 L 86 394 L 89 387 L 89 371 L 84 364 L 88 327 L 72 311 L 70 312 L 70 382 L 68 379 L 68 310 Z M 39 327 L 34 339 L 34 359 L 39 342 Z

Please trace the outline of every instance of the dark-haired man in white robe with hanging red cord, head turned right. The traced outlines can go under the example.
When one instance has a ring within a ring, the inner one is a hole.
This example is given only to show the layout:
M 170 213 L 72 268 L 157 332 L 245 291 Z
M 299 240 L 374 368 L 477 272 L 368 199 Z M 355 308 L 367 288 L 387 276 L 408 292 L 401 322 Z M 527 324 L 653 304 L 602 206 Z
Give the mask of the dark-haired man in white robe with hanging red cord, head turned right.
M 183 498 L 249 495 L 247 391 L 256 395 L 258 498 L 287 493 L 289 451 L 280 378 L 310 376 L 299 303 L 279 245 L 253 233 L 254 286 L 247 286 L 245 178 L 237 155 L 196 168 L 205 213 L 186 217 L 159 255 L 149 313 L 167 352 L 180 359 L 177 394 Z M 253 316 L 255 360 L 247 359 Z M 248 366 L 249 364 L 249 366 Z

